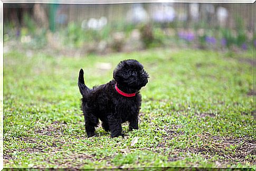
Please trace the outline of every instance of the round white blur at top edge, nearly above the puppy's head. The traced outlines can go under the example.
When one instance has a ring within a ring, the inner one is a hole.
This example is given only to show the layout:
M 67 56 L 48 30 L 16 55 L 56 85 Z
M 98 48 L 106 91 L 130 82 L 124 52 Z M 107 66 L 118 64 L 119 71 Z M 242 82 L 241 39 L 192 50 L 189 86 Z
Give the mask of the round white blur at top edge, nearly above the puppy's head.
M 132 23 L 147 22 L 148 14 L 141 4 L 133 4 L 127 13 L 127 19 Z

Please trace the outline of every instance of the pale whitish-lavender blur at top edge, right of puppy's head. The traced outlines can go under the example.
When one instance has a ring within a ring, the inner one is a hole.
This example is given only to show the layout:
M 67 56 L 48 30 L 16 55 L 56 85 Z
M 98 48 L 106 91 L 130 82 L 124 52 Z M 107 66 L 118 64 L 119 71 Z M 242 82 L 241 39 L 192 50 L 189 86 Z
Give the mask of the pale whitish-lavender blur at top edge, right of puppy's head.
M 159 23 L 174 21 L 176 14 L 172 5 L 161 4 L 154 10 L 153 20 Z

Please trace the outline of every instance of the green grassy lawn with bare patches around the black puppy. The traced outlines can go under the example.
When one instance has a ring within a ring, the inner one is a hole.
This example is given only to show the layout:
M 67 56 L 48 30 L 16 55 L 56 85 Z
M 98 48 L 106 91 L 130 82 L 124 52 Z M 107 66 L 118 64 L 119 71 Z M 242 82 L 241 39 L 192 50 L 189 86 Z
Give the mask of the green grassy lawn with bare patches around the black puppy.
M 110 81 L 127 58 L 150 74 L 141 90 L 139 130 L 128 132 L 124 124 L 127 136 L 110 138 L 99 127 L 98 137 L 87 138 L 79 69 L 92 87 Z M 252 65 L 250 53 L 189 49 L 87 57 L 9 51 L 4 167 L 255 167 Z

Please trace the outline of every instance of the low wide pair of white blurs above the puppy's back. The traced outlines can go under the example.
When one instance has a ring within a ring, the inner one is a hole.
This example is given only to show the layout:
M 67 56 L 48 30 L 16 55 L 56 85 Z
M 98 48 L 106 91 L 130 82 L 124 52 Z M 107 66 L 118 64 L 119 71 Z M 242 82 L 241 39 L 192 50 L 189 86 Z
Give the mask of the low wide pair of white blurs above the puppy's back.
M 86 24 L 82 22 L 81 27 L 85 28 Z M 106 17 L 101 17 L 100 19 L 90 18 L 87 22 L 87 27 L 90 29 L 101 29 L 103 26 L 107 25 L 108 19 Z

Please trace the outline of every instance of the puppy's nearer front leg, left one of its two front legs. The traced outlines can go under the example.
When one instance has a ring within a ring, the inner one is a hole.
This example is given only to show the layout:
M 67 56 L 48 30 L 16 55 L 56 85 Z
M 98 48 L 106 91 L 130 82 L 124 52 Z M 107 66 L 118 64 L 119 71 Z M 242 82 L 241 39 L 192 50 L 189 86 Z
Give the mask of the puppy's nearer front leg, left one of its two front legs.
M 108 123 L 110 128 L 110 135 L 111 137 L 118 137 L 118 136 L 124 136 L 122 134 L 122 125 L 121 125 L 121 118 L 116 118 L 113 116 L 108 117 Z

